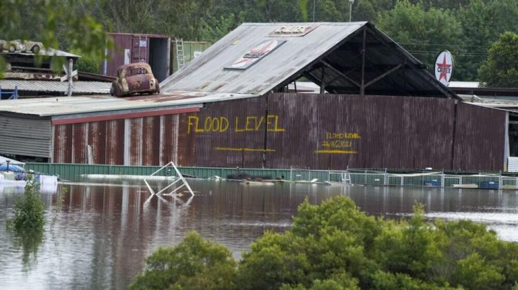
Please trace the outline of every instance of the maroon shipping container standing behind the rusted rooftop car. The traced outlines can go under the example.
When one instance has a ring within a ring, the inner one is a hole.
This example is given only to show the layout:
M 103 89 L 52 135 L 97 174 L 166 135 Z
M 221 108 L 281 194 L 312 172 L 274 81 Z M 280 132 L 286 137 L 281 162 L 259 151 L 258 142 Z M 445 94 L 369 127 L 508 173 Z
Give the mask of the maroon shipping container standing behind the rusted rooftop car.
M 143 61 L 151 66 L 158 81 L 169 77 L 169 37 L 129 33 L 108 35 L 113 39 L 114 46 L 112 50 L 106 50 L 107 59 L 102 66 L 102 75 L 117 77 L 119 66 Z

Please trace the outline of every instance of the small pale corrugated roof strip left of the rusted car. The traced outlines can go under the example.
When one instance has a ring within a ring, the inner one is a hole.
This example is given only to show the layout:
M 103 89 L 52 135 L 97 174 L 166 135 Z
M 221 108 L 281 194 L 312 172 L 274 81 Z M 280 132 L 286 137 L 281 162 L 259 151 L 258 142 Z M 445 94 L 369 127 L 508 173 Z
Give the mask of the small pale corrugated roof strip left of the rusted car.
M 37 81 L 26 79 L 0 79 L 0 87 L 3 90 L 18 90 L 28 92 L 64 92 L 68 90 L 68 82 L 61 81 Z M 111 83 L 106 81 L 74 81 L 73 93 L 75 94 L 109 94 Z

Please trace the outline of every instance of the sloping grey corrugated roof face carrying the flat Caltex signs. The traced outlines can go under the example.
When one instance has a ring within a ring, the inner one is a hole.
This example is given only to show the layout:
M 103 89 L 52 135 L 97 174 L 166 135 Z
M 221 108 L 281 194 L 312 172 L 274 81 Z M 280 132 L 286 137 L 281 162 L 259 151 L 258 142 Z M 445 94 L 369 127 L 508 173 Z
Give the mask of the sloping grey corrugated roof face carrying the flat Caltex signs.
M 311 23 L 243 23 L 182 70 L 162 81 L 160 87 L 165 92 L 189 90 L 263 95 L 365 23 L 312 23 L 318 27 L 303 37 L 269 37 L 269 34 L 282 26 Z M 266 39 L 286 42 L 246 70 L 223 69 Z

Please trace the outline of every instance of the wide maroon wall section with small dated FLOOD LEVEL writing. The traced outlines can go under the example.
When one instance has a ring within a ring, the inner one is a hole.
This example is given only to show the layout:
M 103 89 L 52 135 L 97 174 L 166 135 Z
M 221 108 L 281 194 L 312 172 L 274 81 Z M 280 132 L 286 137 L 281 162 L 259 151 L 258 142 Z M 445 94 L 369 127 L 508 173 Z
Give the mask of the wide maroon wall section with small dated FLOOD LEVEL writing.
M 285 131 L 268 133 L 275 152 L 267 155 L 267 167 L 448 168 L 453 104 L 421 97 L 269 95 L 269 115 L 278 115 Z

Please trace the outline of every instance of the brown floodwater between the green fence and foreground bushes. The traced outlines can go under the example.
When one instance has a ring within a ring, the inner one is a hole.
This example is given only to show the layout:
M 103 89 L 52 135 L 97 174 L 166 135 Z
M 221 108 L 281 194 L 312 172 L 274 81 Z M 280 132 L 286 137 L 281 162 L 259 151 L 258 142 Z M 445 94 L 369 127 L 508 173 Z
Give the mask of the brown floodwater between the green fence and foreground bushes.
M 409 215 L 418 201 L 430 218 L 484 222 L 503 240 L 518 242 L 518 191 L 190 184 L 196 195 L 184 193 L 178 200 L 151 197 L 140 184 L 61 184 L 58 193 L 42 194 L 45 230 L 32 243 L 6 232 L 21 193 L 0 189 L 0 289 L 124 289 L 153 249 L 178 244 L 189 231 L 240 258 L 265 231 L 289 229 L 305 198 L 318 204 L 334 195 L 347 195 L 367 213 L 387 218 Z

